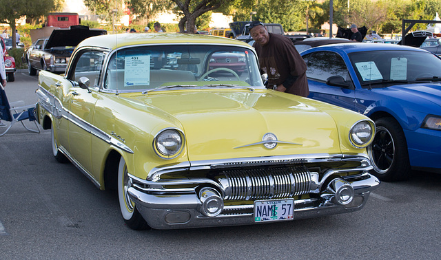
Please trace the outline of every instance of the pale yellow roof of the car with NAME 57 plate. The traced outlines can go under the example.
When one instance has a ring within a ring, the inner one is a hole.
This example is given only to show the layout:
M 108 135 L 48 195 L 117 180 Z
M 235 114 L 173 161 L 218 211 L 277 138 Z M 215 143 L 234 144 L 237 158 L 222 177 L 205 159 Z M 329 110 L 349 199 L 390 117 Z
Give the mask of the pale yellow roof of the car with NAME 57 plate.
M 208 36 L 203 34 L 107 34 L 94 36 L 82 41 L 77 47 L 96 46 L 115 50 L 119 47 L 143 44 L 168 44 L 168 43 L 216 43 L 225 45 L 241 45 L 250 47 L 243 41 L 227 37 Z

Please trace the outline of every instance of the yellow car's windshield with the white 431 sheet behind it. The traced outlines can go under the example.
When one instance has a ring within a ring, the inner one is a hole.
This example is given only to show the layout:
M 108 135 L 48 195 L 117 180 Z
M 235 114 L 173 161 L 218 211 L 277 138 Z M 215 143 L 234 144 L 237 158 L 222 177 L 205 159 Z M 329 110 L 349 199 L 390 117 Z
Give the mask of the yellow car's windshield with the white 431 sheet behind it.
M 128 47 L 114 52 L 107 65 L 105 89 L 145 91 L 169 86 L 263 87 L 263 83 L 256 56 L 245 47 Z

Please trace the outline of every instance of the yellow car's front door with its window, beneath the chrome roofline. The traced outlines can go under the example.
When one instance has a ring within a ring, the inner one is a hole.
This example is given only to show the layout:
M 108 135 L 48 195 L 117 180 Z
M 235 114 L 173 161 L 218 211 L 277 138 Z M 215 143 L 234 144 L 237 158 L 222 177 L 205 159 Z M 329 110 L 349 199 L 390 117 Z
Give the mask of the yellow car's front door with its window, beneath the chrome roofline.
M 103 64 L 103 52 L 83 50 L 77 52 L 70 69 L 69 78 L 74 83 L 67 96 L 70 98 L 69 151 L 92 177 L 92 133 L 94 107 L 99 100 L 99 75 Z M 79 87 L 80 78 L 90 80 L 90 88 Z M 96 176 L 93 176 L 97 180 Z

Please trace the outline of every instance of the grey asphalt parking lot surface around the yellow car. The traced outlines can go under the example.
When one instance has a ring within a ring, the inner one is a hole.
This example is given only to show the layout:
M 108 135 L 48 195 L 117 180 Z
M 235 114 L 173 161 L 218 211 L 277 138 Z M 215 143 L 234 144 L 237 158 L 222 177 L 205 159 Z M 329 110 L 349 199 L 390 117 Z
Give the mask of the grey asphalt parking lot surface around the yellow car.
M 36 102 L 20 71 L 10 102 Z M 117 195 L 52 157 L 50 131 L 0 137 L 0 259 L 439 259 L 441 175 L 382 182 L 355 213 L 274 224 L 134 231 Z

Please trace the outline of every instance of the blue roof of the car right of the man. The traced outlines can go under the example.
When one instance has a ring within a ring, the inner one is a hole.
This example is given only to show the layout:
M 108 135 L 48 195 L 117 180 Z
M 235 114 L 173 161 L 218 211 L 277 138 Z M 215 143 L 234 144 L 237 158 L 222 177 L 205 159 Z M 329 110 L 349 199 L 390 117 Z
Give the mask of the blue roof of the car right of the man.
M 336 43 L 329 45 L 322 45 L 319 47 L 314 47 L 309 50 L 305 50 L 305 53 L 317 52 L 319 50 L 336 50 L 340 52 L 367 52 L 367 51 L 377 51 L 377 50 L 396 50 L 396 51 L 416 51 L 416 52 L 427 52 L 417 47 L 397 45 L 397 44 L 380 44 L 380 43 Z

